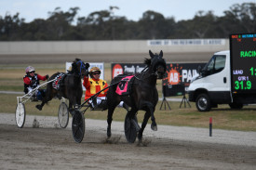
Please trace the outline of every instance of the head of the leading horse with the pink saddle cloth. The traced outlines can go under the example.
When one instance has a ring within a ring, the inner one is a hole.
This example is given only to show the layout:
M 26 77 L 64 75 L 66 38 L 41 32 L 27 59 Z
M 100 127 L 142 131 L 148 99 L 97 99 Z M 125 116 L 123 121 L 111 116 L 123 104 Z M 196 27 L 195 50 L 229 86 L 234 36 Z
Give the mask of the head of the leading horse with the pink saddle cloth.
M 163 51 L 160 51 L 160 54 L 153 54 L 151 50 L 149 50 L 149 55 L 151 59 L 148 59 L 148 63 L 152 68 L 153 72 L 157 75 L 157 79 L 162 79 L 167 70 L 166 60 L 163 59 Z

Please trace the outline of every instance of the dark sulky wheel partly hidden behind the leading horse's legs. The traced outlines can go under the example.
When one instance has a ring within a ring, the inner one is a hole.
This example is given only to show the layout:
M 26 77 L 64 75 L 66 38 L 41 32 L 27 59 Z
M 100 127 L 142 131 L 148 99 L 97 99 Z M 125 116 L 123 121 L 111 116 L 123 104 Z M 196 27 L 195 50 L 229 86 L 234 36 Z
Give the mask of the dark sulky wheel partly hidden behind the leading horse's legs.
M 129 143 L 134 143 L 137 137 L 136 127 L 132 121 L 138 123 L 137 116 L 132 120 L 127 114 L 125 119 L 125 135 Z

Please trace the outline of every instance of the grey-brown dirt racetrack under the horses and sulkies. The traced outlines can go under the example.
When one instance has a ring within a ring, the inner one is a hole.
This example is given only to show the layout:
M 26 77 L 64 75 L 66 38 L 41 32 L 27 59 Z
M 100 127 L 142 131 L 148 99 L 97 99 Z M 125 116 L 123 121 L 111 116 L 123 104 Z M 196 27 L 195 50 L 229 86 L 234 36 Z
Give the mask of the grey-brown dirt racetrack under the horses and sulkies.
M 146 127 L 143 145 L 129 144 L 123 123 L 86 120 L 86 135 L 75 143 L 71 122 L 57 117 L 26 116 L 18 128 L 14 114 L 0 113 L 0 167 L 4 169 L 255 169 L 256 133 L 159 125 Z M 37 125 L 33 125 L 37 122 Z M 71 121 L 71 120 L 70 120 Z M 38 125 L 39 124 L 39 125 Z

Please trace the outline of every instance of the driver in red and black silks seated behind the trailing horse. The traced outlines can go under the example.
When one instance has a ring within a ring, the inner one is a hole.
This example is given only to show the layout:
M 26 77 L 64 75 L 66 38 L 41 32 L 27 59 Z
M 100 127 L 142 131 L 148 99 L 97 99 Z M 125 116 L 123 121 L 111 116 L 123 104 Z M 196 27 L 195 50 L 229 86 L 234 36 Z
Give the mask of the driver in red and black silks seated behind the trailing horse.
M 31 92 L 35 87 L 37 87 L 39 85 L 39 80 L 45 81 L 49 77 L 48 75 L 42 76 L 38 73 L 35 73 L 35 69 L 32 66 L 28 66 L 25 69 L 25 72 L 26 75 L 23 77 L 25 94 Z M 37 97 L 37 99 L 42 99 L 42 93 L 42 90 L 37 90 L 35 92 L 35 97 Z

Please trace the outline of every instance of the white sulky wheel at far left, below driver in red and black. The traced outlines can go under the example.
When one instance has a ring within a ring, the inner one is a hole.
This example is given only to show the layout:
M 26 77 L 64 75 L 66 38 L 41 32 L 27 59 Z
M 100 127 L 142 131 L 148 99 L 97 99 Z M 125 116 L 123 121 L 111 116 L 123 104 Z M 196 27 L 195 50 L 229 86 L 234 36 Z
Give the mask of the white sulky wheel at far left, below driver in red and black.
M 15 112 L 15 119 L 16 119 L 17 126 L 22 128 L 23 125 L 25 124 L 25 119 L 26 119 L 25 105 L 23 103 L 17 104 L 16 112 Z

